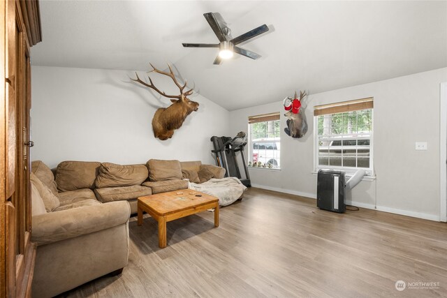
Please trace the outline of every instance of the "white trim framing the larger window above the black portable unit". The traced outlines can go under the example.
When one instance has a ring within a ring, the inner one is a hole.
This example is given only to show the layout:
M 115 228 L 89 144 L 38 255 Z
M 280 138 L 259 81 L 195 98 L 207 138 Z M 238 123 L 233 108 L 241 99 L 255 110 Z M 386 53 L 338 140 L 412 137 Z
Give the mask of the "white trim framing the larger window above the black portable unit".
M 337 105 L 335 103 L 334 105 Z M 321 169 L 330 169 L 330 170 L 342 170 L 346 172 L 346 174 L 349 176 L 353 173 L 355 173 L 357 170 L 365 170 L 366 175 L 370 177 L 375 178 L 375 171 L 374 171 L 374 107 L 368 107 L 367 109 L 371 109 L 371 117 L 372 117 L 372 132 L 370 133 L 369 137 L 369 167 L 340 167 L 336 165 L 318 165 L 318 116 L 321 115 L 315 115 L 314 116 L 314 172 L 318 172 L 318 170 Z M 362 109 L 362 110 L 367 110 Z M 337 114 L 337 113 L 331 113 L 331 114 Z M 357 139 L 356 139 L 357 140 Z

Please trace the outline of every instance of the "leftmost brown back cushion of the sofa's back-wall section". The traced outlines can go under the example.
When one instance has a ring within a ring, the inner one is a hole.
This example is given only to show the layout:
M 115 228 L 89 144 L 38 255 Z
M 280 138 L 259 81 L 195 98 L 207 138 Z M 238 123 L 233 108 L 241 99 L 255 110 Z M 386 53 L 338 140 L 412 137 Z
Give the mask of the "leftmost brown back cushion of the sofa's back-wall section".
M 56 183 L 59 191 L 94 188 L 101 163 L 95 161 L 63 161 L 57 165 Z

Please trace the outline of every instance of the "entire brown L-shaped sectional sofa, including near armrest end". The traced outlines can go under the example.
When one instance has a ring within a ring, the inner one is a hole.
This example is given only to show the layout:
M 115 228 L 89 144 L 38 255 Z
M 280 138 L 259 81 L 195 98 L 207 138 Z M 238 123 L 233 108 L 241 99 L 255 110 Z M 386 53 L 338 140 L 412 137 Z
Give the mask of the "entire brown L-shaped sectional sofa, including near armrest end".
M 105 274 L 119 274 L 129 256 L 129 216 L 137 198 L 223 178 L 200 161 L 116 165 L 63 161 L 52 172 L 31 164 L 31 241 L 38 244 L 33 297 L 52 297 Z

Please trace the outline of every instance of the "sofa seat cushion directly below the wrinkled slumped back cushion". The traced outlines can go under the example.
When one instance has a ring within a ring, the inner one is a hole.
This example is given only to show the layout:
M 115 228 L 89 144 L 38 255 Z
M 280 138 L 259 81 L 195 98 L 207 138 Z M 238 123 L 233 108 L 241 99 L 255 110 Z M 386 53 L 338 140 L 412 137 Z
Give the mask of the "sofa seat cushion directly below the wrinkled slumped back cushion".
M 96 188 L 95 194 L 101 202 L 113 202 L 122 200 L 133 200 L 145 195 L 152 195 L 152 190 L 146 186 L 133 185 L 122 187 Z

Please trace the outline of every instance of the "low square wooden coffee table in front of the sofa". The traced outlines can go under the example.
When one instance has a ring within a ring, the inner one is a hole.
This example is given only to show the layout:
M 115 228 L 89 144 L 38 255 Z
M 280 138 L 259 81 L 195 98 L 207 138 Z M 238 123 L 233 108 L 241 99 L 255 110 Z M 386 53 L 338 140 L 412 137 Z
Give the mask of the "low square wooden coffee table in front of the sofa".
M 196 196 L 196 195 L 201 195 Z M 206 193 L 182 189 L 138 198 L 138 225 L 142 225 L 142 212 L 159 223 L 159 246 L 166 247 L 166 223 L 177 218 L 214 208 L 214 227 L 219 227 L 219 199 Z

